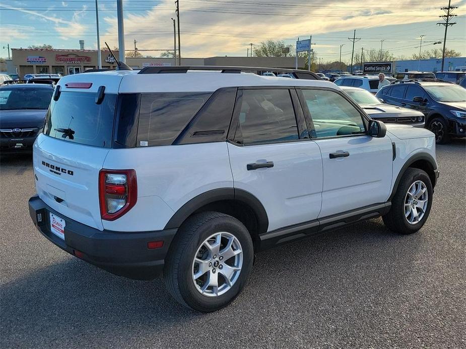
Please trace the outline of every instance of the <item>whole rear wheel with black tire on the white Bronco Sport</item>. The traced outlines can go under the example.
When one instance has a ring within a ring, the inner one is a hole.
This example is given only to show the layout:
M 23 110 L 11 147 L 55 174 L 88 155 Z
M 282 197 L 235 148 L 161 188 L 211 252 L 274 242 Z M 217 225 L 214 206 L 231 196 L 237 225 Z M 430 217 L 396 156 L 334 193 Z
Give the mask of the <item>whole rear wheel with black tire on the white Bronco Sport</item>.
M 241 292 L 253 258 L 251 236 L 239 220 L 218 212 L 198 213 L 181 225 L 171 243 L 165 283 L 182 305 L 216 311 Z

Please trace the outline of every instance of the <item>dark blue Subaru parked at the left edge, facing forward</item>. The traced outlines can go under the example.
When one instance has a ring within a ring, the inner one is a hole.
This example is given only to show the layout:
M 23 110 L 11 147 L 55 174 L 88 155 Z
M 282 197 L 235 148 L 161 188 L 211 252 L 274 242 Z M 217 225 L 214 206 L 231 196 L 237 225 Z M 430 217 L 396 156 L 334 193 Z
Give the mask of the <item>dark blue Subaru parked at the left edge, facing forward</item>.
M 13 84 L 0 88 L 0 149 L 2 154 L 32 151 L 53 94 L 47 84 Z

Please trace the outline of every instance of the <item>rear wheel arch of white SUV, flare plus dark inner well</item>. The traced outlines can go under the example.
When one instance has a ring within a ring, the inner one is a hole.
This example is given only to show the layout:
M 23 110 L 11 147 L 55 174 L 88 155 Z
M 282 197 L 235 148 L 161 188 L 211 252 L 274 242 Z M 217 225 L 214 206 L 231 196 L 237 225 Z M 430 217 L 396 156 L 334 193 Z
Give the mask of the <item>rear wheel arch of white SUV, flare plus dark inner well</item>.
M 267 212 L 254 195 L 237 188 L 220 188 L 189 200 L 175 212 L 164 229 L 179 228 L 188 217 L 204 211 L 217 211 L 238 219 L 249 230 L 254 247 L 259 243 L 259 234 L 269 228 Z

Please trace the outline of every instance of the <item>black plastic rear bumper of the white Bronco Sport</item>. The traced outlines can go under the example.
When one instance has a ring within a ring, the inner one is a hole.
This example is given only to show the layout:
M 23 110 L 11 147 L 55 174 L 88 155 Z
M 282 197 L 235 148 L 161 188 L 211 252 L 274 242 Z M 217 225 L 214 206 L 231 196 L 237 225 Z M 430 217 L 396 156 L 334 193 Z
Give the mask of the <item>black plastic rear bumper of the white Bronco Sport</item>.
M 51 232 L 50 212 L 65 220 L 64 240 Z M 61 249 L 110 273 L 137 280 L 152 280 L 161 273 L 177 231 L 101 231 L 63 216 L 38 196 L 29 199 L 29 214 L 37 230 Z M 150 241 L 163 241 L 163 246 L 149 249 Z

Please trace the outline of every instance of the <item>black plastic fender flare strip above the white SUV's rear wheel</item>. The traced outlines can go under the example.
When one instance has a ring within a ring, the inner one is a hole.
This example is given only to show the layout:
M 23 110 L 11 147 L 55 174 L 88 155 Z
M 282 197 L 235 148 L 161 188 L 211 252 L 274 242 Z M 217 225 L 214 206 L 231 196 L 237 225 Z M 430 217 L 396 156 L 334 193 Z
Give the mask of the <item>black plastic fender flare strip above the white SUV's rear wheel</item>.
M 181 206 L 170 218 L 164 229 L 179 228 L 179 226 L 199 208 L 216 201 L 234 200 L 251 207 L 257 217 L 258 234 L 267 232 L 269 218 L 263 205 L 251 193 L 237 188 L 213 189 L 199 194 Z

